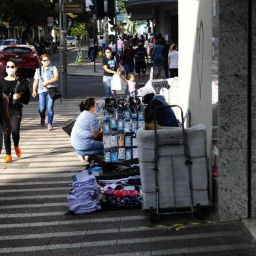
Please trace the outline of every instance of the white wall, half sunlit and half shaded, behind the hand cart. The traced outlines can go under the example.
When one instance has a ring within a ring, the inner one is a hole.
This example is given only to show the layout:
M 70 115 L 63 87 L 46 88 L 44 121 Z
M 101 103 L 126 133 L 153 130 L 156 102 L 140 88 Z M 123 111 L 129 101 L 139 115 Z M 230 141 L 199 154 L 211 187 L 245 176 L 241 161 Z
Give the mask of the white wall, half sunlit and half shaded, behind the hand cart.
M 179 104 L 207 127 L 212 152 L 212 1 L 179 0 Z

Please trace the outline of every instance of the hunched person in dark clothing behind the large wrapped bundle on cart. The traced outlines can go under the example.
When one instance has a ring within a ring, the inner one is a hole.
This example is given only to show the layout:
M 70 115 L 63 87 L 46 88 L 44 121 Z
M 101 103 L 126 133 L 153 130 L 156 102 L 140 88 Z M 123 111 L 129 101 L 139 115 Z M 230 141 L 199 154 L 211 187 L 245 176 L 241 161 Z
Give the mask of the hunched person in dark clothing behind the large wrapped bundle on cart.
M 155 90 L 152 86 L 144 86 L 142 88 L 140 96 L 142 96 L 142 103 L 147 104 L 145 108 L 145 122 L 152 124 L 148 125 L 153 129 L 153 113 L 157 106 L 168 105 L 163 95 L 155 95 Z M 161 108 L 157 111 L 157 125 L 167 127 L 178 127 L 178 121 L 172 110 L 172 108 Z

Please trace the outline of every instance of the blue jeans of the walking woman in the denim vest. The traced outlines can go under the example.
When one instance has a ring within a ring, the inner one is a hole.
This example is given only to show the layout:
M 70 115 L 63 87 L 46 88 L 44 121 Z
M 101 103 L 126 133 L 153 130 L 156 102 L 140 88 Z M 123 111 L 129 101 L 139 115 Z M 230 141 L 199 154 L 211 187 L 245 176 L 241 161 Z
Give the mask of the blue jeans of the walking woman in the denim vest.
M 47 109 L 48 125 L 52 125 L 54 119 L 54 100 L 51 99 L 48 91 L 39 93 L 39 114 L 41 118 L 45 118 L 45 112 Z

